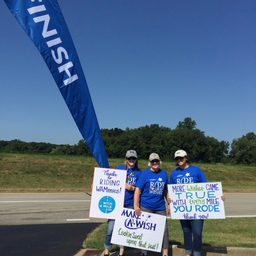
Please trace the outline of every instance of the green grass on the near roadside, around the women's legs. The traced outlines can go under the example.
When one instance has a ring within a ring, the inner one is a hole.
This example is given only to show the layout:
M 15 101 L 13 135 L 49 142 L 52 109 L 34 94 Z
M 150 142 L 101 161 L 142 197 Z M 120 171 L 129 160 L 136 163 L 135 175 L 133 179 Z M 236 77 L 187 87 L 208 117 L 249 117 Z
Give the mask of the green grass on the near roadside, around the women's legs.
M 107 223 L 103 223 L 87 235 L 84 248 L 104 249 Z M 203 246 L 256 248 L 256 218 L 209 219 L 204 221 Z M 184 245 L 179 220 L 168 219 L 169 243 Z M 111 252 L 118 251 L 113 245 Z

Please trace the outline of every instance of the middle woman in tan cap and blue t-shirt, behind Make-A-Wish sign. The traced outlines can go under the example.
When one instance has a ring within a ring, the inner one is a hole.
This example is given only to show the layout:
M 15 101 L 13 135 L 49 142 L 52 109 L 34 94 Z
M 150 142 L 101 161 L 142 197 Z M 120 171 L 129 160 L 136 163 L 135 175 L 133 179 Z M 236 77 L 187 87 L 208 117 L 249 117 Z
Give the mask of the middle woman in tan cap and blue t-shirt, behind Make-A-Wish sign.
M 159 168 L 161 163 L 159 155 L 152 153 L 148 162 L 150 168 L 143 171 L 136 183 L 134 210 L 138 216 L 140 216 L 140 210 L 166 216 L 165 197 L 167 199 L 168 176 L 165 170 Z M 163 256 L 168 256 L 168 247 L 169 235 L 166 221 L 162 244 Z M 146 256 L 147 251 L 142 250 L 141 255 Z

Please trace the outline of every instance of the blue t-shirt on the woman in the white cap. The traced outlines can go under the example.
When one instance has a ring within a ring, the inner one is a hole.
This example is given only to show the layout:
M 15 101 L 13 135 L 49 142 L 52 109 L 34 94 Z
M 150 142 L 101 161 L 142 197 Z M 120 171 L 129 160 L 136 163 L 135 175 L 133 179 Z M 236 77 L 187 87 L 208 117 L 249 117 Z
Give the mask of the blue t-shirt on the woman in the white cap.
M 186 169 L 174 169 L 170 176 L 169 184 L 207 182 L 202 170 L 197 166 L 189 165 Z

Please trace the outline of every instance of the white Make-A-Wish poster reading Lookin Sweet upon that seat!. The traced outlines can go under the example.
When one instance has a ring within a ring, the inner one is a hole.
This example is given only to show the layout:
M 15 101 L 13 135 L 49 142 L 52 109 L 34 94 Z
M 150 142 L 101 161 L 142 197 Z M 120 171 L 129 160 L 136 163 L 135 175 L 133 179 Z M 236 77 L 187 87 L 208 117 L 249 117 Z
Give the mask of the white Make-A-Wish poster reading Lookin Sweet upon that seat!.
M 166 216 L 141 212 L 140 217 L 128 208 L 118 212 L 111 242 L 113 244 L 161 252 Z

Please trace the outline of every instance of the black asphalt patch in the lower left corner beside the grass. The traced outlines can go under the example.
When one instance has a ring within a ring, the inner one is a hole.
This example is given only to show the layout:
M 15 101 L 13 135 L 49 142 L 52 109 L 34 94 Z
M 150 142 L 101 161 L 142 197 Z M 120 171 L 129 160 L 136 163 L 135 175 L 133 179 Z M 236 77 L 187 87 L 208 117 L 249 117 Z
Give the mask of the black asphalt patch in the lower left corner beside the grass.
M 1 256 L 73 256 L 100 223 L 0 226 Z

